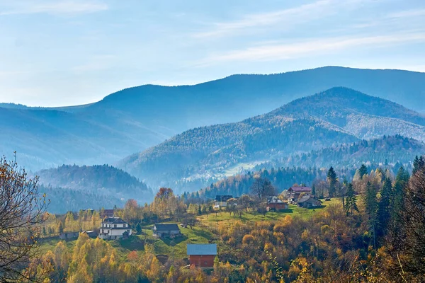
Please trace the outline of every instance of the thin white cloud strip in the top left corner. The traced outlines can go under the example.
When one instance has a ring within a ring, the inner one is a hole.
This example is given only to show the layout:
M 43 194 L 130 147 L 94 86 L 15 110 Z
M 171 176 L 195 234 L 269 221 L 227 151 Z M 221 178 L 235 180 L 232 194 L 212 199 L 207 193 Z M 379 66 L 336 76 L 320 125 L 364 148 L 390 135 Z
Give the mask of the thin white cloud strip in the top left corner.
M 98 1 L 10 1 L 4 4 L 1 16 L 17 14 L 47 13 L 50 15 L 95 13 L 108 10 L 108 5 Z

